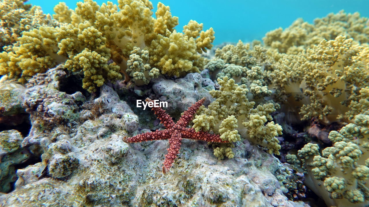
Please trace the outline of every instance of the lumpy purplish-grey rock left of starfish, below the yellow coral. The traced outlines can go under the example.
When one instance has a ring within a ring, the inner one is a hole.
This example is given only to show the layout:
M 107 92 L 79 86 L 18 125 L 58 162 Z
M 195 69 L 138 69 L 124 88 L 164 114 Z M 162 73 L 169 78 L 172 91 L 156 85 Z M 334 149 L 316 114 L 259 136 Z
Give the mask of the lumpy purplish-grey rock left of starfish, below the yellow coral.
M 32 78 L 23 98 L 23 106 L 31 114 L 32 128 L 22 145 L 40 145 L 48 175 L 58 179 L 68 178 L 80 163 L 73 145 L 84 145 L 83 140 L 95 140 L 110 130 L 124 128 L 132 132 L 138 125 L 137 116 L 106 85 L 101 88 L 100 97 L 92 101 L 86 101 L 79 91 L 59 91 L 68 79 L 64 70 L 61 65 Z M 83 134 L 94 124 L 99 126 L 95 128 L 97 135 Z M 77 132 L 80 134 L 71 139 L 71 134 Z

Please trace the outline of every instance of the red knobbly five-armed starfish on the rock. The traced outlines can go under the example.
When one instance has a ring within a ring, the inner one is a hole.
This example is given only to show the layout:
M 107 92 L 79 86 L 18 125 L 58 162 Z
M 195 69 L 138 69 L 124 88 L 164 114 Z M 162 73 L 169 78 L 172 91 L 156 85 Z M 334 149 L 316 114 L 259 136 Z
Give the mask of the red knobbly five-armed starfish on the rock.
M 196 132 L 193 128 L 186 128 L 187 123 L 190 122 L 194 113 L 197 109 L 204 103 L 206 98 L 202 98 L 200 101 L 194 103 L 188 110 L 184 111 L 181 118 L 177 123 L 174 123 L 172 118 L 165 113 L 161 107 L 152 107 L 155 114 L 158 115 L 161 123 L 164 124 L 165 130 L 156 130 L 152 132 L 146 132 L 144 134 L 138 134 L 134 137 L 125 138 L 125 142 L 141 142 L 141 141 L 152 141 L 152 140 L 169 140 L 168 154 L 165 155 L 165 160 L 163 163 L 163 173 L 169 171 L 174 159 L 177 158 L 180 145 L 182 144 L 182 138 L 203 140 L 219 143 L 227 143 L 228 141 L 221 140 L 220 136 L 217 134 L 209 134 L 204 131 Z M 149 98 L 146 98 L 146 102 L 154 102 Z

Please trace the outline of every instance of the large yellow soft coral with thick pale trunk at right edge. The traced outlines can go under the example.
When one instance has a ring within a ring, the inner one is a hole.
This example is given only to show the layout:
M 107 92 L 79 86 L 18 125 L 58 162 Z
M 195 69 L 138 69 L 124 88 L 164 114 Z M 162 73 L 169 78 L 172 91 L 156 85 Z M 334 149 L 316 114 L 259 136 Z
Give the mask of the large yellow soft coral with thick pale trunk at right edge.
M 369 83 L 366 62 L 355 60 L 363 49 L 352 39 L 338 36 L 307 51 L 308 60 L 299 67 L 304 74 L 305 95 L 311 100 L 301 108 L 304 119 L 313 117 L 312 111 L 320 113 L 318 117 L 325 122 L 344 119 L 350 96 Z

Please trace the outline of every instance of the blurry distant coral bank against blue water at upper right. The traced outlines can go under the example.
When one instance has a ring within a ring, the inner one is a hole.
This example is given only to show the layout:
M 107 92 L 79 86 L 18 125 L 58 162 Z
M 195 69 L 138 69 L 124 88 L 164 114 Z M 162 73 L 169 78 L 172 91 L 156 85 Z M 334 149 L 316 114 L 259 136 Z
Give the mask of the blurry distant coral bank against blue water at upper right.
M 278 28 L 268 32 L 263 38 L 267 47 L 280 53 L 293 53 L 297 47 L 311 48 L 322 39 L 331 40 L 339 35 L 353 38 L 360 43 L 369 42 L 368 18 L 360 17 L 358 12 L 346 14 L 343 10 L 337 14 L 317 18 L 314 24 L 297 19 L 286 29 Z

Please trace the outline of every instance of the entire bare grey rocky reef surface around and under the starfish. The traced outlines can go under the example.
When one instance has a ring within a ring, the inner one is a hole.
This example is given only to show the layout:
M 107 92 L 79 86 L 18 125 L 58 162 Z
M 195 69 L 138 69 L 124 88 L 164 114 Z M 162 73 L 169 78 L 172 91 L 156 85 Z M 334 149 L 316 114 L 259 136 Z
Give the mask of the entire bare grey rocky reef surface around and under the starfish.
M 159 123 L 139 126 L 147 118 L 108 85 L 95 97 L 66 90 L 70 78 L 60 65 L 34 76 L 22 92 L 31 130 L 26 137 L 1 132 L 0 206 L 307 206 L 289 200 L 299 194 L 299 176 L 247 140 L 236 144 L 233 159 L 218 160 L 211 145 L 184 139 L 172 169 L 162 174 L 167 140 L 123 141 Z M 214 88 L 198 73 L 152 84 L 154 96 L 175 103 L 168 103 L 169 113 L 210 98 Z M 39 161 L 17 166 L 28 157 Z

